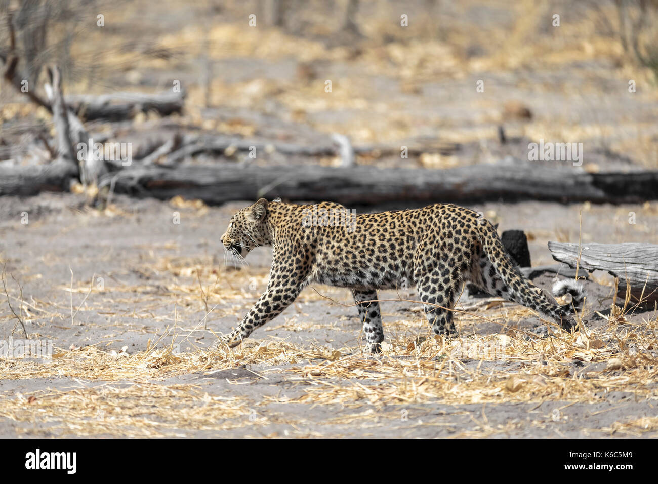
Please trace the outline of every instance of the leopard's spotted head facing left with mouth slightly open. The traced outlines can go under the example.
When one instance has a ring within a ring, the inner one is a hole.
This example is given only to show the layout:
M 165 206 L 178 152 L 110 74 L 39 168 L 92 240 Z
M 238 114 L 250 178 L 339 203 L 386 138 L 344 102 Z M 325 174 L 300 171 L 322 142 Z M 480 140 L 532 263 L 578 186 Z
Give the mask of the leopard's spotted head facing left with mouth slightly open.
M 231 217 L 228 228 L 221 238 L 228 252 L 245 257 L 253 248 L 271 244 L 265 225 L 267 205 L 267 200 L 261 198 Z

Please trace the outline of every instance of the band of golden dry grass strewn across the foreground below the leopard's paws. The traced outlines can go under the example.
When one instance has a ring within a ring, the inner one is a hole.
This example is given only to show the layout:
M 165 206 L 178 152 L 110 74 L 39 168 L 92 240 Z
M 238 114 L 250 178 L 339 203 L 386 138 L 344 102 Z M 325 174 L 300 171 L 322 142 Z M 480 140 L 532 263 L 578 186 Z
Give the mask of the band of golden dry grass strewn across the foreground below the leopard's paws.
M 636 325 L 616 317 L 600 331 L 567 334 L 556 330 L 547 338 L 513 328 L 506 335 L 456 340 L 404 335 L 384 344 L 381 356 L 362 354 L 359 348 L 302 348 L 270 340 L 247 340 L 235 350 L 215 353 L 172 354 L 165 348 L 131 355 L 103 352 L 94 346 L 57 350 L 51 361 L 0 360 L 2 378 L 66 377 L 82 388 L 2 398 L 0 416 L 38 423 L 57 435 L 175 437 L 187 431 L 278 422 L 281 417 L 266 410 L 272 403 L 338 404 L 349 412 L 327 423 L 345 424 L 365 419 L 386 404 L 597 402 L 602 394 L 615 391 L 632 392 L 636 400 L 655 400 L 656 329 L 658 319 Z M 517 363 L 520 369 L 509 371 L 497 364 L 503 361 Z M 578 371 L 570 365 L 577 361 L 601 364 Z M 155 383 L 190 373 L 213 375 L 243 365 L 257 368 L 255 378 L 284 373 L 303 394 L 297 398 L 263 396 L 255 402 L 213 396 L 195 385 Z M 132 384 L 126 386 L 126 382 Z M 287 422 L 291 423 L 290 418 Z M 299 417 L 297 424 L 302 423 Z M 514 425 L 482 425 L 460 436 L 486 437 Z M 603 431 L 639 435 L 655 430 L 656 425 L 655 419 L 646 418 Z

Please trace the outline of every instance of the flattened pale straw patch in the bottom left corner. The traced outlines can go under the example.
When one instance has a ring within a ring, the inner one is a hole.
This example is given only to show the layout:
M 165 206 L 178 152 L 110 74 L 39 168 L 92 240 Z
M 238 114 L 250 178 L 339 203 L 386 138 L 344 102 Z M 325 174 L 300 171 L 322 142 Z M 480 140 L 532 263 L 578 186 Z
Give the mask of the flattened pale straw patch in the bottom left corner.
M 235 397 L 154 383 L 43 390 L 0 405 L 0 417 L 36 423 L 61 437 L 185 437 L 185 431 L 234 429 L 263 419 L 249 418 L 252 413 Z

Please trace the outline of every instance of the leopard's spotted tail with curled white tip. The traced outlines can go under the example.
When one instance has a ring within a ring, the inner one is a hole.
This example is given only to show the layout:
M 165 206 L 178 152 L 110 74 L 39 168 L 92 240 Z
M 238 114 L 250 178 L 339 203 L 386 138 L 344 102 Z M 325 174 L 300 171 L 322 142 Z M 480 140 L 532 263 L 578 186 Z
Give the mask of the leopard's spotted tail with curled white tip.
M 544 317 L 553 319 L 565 329 L 574 327 L 576 321 L 574 321 L 571 313 L 572 309 L 580 307 L 585 298 L 582 284 L 572 280 L 557 282 L 553 286 L 553 295 L 559 297 L 571 294 L 572 300 L 562 306 L 549 302 L 537 288 L 530 286 L 528 280 L 520 273 L 517 265 L 511 261 L 491 223 L 484 221 L 480 223 L 479 227 L 484 252 L 495 269 L 495 275 L 502 282 L 502 284 L 498 284 L 502 286 L 501 293 L 507 293 L 514 302 L 522 304 L 526 308 L 534 309 Z M 489 275 L 485 274 L 485 277 L 489 277 Z M 495 287 L 496 284 L 494 283 L 493 286 Z

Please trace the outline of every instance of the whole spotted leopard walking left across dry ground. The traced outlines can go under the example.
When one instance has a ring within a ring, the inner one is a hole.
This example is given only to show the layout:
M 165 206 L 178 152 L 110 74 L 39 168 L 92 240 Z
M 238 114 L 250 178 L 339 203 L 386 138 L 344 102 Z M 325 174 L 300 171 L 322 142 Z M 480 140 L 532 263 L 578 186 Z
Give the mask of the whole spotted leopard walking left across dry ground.
M 553 296 L 570 294 L 570 303 L 549 301 L 520 273 L 482 213 L 450 203 L 357 214 L 336 202 L 261 198 L 231 217 L 220 240 L 241 258 L 271 246 L 272 265 L 265 292 L 214 348 L 238 346 L 311 283 L 351 290 L 365 336 L 363 349 L 371 354 L 381 352 L 384 341 L 378 290 L 415 285 L 432 331 L 445 338 L 457 336 L 455 302 L 467 282 L 526 306 L 565 331 L 577 327 L 572 311 L 585 297 L 580 282 L 565 279 L 553 286 Z

